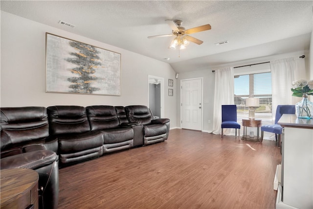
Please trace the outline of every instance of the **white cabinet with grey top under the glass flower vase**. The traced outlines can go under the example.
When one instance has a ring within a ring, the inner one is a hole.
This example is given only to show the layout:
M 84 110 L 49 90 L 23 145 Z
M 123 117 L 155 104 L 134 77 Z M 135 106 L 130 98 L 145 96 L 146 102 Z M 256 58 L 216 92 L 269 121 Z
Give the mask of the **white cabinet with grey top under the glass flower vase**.
M 312 209 L 313 119 L 284 114 L 278 124 L 284 129 L 276 209 Z

